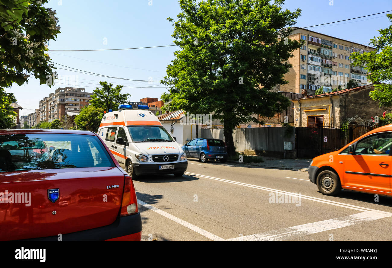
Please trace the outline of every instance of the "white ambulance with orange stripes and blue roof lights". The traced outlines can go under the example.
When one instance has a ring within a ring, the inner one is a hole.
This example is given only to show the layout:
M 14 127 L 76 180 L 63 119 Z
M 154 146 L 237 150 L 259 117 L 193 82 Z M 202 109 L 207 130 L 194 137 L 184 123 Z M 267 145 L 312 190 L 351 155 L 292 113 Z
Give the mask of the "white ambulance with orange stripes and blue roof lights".
M 180 177 L 187 170 L 184 151 L 147 105 L 122 104 L 117 111 L 109 110 L 97 133 L 132 179 L 160 174 Z

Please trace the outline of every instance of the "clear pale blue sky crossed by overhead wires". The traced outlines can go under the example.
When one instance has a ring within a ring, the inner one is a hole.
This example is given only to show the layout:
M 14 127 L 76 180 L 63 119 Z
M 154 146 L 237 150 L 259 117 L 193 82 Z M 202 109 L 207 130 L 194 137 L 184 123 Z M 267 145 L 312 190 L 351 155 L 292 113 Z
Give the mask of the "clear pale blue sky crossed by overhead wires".
M 47 4 L 57 11 L 61 32 L 56 41 L 49 42 L 49 49 L 113 49 L 127 47 L 171 45 L 173 27 L 167 17 L 176 18 L 180 12 L 177 0 L 50 0 Z M 152 2 L 152 5 L 149 5 Z M 392 10 L 392 1 L 373 0 L 286 0 L 285 8 L 302 10 L 296 26 L 306 27 Z M 331 2 L 332 3 L 332 2 Z M 370 5 L 368 5 L 370 4 Z M 380 17 L 381 16 L 381 17 Z M 349 22 L 349 23 L 348 23 Z M 377 30 L 390 25 L 385 14 L 341 22 L 328 26 L 312 27 L 313 31 L 368 44 Z M 103 44 L 107 38 L 107 44 Z M 166 66 L 174 58 L 176 47 L 134 49 L 120 51 L 50 52 L 54 62 L 93 73 L 137 80 L 161 80 Z M 61 67 L 61 66 L 60 66 Z M 92 92 L 99 81 L 107 80 L 123 86 L 155 86 L 154 88 L 124 88 L 131 93 L 131 101 L 140 98 L 160 98 L 166 91 L 159 83 L 124 81 L 103 78 L 58 69 L 59 75 L 77 75 L 78 86 Z M 91 84 L 89 84 L 91 83 Z M 37 109 L 39 101 L 64 84 L 49 88 L 31 78 L 28 84 L 16 84 L 8 91 L 14 92 L 23 108 L 21 115 Z

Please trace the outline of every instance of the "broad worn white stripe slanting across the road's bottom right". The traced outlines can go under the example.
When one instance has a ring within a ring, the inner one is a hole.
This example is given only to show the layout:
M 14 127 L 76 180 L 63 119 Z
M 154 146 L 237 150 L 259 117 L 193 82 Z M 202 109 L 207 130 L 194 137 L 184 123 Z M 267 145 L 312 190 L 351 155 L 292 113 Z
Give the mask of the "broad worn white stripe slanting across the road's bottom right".
M 312 233 L 343 228 L 350 225 L 374 221 L 391 216 L 392 214 L 388 212 L 366 211 L 326 221 L 312 222 L 265 233 L 246 235 L 243 237 L 234 237 L 232 239 L 227 239 L 227 241 L 282 241 L 287 240 L 287 238 L 292 236 L 310 235 Z

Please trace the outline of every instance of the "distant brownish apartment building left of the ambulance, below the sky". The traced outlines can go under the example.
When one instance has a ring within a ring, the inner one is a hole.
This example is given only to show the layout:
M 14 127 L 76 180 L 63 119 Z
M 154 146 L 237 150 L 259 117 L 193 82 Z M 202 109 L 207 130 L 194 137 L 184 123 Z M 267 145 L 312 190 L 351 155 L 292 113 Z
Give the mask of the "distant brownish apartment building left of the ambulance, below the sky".
M 49 97 L 40 100 L 40 121 L 51 122 L 55 119 L 61 120 L 66 112 L 79 113 L 80 110 L 89 105 L 91 92 L 85 92 L 84 88 L 58 88 Z

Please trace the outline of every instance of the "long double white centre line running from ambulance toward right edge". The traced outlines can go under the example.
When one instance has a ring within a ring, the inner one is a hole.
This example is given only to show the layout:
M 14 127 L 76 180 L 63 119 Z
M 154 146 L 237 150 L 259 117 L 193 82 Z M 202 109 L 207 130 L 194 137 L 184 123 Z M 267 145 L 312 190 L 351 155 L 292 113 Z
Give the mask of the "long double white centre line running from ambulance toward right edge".
M 207 175 L 191 173 L 191 172 L 188 172 L 188 171 L 186 171 L 185 174 L 186 175 L 196 175 L 196 176 L 204 177 L 204 178 L 211 179 L 211 180 L 219 180 L 221 182 L 227 182 L 227 183 L 236 184 L 236 185 L 245 186 L 245 187 L 250 187 L 250 188 L 259 189 L 259 190 L 263 190 L 263 191 L 269 191 L 269 192 L 274 191 L 274 192 L 277 192 L 277 193 L 281 193 L 283 195 L 289 195 L 289 196 L 293 196 L 293 197 L 298 197 L 298 193 L 292 193 L 292 192 L 288 192 L 288 191 L 281 191 L 281 190 L 277 190 L 277 189 L 273 189 L 273 188 L 267 188 L 267 187 L 263 187 L 263 186 L 247 184 L 247 183 L 243 183 L 243 182 L 237 182 L 237 181 L 234 181 L 234 180 L 220 179 L 220 178 L 216 178 L 216 177 L 210 177 L 210 176 L 207 176 Z M 325 203 L 325 204 L 329 204 L 329 205 L 333 205 L 333 206 L 340 206 L 342 208 L 350 208 L 352 210 L 379 211 L 381 213 L 388 213 L 388 212 L 385 212 L 385 211 L 373 210 L 373 209 L 370 209 L 370 208 L 363 208 L 361 206 L 355 206 L 355 205 L 351 205 L 351 204 L 331 201 L 331 200 L 322 199 L 322 198 L 318 198 L 318 197 L 312 197 L 312 196 L 309 196 L 309 195 L 302 195 L 301 194 L 300 197 L 301 197 L 301 199 L 307 199 L 307 200 L 316 201 L 316 202 L 320 202 L 320 203 Z M 392 213 L 391 213 L 391 215 L 392 215 Z

